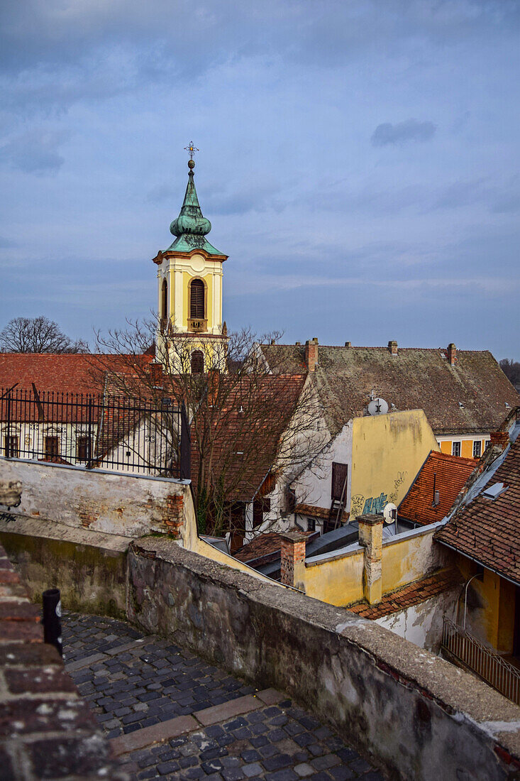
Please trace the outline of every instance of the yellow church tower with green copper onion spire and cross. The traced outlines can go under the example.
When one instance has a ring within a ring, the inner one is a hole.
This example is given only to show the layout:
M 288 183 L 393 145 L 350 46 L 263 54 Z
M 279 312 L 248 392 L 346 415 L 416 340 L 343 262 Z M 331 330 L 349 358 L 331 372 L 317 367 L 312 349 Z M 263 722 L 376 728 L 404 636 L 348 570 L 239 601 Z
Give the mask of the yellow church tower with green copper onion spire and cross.
M 202 216 L 194 182 L 193 143 L 187 149 L 188 182 L 179 216 L 169 226 L 175 237 L 159 251 L 159 327 L 156 356 L 176 372 L 201 373 L 217 365 L 226 350 L 222 319 L 223 262 L 227 255 L 209 243 L 212 224 Z

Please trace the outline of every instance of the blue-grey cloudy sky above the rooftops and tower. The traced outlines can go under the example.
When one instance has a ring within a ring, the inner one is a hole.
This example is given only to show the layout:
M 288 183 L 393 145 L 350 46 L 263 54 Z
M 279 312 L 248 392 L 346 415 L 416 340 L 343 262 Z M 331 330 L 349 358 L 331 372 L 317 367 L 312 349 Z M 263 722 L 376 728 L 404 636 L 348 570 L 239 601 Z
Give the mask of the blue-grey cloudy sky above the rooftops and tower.
M 518 0 L 0 13 L 0 325 L 146 316 L 193 139 L 230 329 L 520 360 Z

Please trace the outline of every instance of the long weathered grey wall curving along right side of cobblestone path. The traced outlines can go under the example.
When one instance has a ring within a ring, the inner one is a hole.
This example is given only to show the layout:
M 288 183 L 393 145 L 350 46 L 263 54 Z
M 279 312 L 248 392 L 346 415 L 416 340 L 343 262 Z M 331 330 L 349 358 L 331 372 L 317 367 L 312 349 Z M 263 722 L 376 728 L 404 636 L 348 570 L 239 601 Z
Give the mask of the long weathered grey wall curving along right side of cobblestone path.
M 131 620 L 287 691 L 390 778 L 518 778 L 520 708 L 376 622 L 168 540 L 134 543 L 129 578 Z

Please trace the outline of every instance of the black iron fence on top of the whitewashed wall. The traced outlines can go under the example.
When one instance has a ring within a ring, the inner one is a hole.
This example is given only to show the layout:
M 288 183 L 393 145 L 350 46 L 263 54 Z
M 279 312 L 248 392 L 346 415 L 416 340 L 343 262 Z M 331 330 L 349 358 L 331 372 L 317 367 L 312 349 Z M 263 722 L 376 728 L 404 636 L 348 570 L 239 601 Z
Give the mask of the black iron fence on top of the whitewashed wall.
M 0 452 L 87 469 L 191 477 L 186 408 L 170 398 L 0 390 Z

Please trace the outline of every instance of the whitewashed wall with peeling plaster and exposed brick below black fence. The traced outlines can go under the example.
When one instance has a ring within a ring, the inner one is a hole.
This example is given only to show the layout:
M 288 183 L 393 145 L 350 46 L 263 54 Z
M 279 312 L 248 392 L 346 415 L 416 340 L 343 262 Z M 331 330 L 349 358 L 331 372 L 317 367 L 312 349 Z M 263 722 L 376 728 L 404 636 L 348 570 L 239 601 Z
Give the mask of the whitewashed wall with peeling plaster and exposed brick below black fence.
M 22 483 L 13 516 L 48 519 L 65 526 L 125 537 L 168 532 L 180 537 L 193 513 L 187 481 L 122 475 L 20 458 L 0 458 L 2 480 Z

